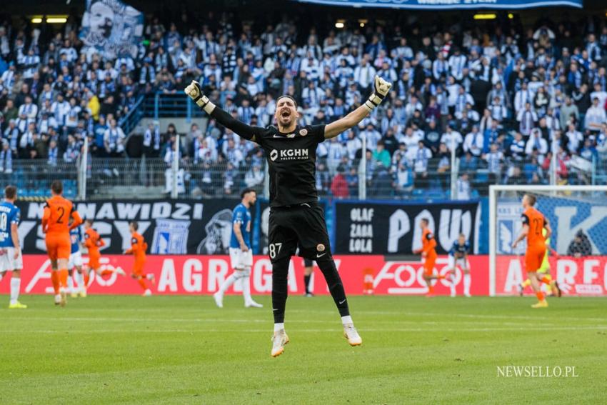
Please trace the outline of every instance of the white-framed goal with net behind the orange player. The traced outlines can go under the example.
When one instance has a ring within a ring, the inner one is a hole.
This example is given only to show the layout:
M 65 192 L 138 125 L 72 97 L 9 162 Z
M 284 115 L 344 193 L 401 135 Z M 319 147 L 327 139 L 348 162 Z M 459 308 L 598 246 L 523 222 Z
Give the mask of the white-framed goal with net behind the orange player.
M 511 247 L 527 193 L 551 225 L 548 272 L 563 294 L 607 295 L 607 186 L 490 186 L 489 294 L 532 292 L 521 289 L 526 240 Z

